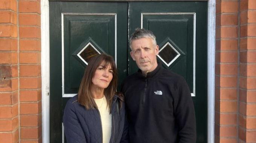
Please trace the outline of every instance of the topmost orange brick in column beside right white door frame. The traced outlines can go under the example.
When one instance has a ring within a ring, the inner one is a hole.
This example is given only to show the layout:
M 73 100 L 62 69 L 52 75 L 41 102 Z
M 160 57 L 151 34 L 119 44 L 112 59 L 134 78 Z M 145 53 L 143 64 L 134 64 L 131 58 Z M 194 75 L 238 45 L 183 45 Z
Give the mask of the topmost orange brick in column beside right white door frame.
M 238 1 L 221 1 L 221 13 L 238 13 Z

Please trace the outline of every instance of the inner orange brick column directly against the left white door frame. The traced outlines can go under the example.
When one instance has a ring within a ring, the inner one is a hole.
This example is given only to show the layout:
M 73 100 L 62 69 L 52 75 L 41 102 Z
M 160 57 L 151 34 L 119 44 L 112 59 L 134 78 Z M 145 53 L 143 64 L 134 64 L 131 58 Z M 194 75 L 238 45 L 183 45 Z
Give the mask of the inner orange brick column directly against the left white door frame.
M 20 140 L 41 143 L 40 0 L 19 0 Z

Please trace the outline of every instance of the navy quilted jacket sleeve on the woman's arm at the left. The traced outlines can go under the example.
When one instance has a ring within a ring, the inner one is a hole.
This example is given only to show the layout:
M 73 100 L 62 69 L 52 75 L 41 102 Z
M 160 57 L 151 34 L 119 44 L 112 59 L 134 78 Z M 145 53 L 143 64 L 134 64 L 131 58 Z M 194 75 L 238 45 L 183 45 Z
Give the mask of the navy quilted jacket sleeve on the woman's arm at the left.
M 85 134 L 79 122 L 75 107 L 68 101 L 63 115 L 64 132 L 67 143 L 86 143 Z

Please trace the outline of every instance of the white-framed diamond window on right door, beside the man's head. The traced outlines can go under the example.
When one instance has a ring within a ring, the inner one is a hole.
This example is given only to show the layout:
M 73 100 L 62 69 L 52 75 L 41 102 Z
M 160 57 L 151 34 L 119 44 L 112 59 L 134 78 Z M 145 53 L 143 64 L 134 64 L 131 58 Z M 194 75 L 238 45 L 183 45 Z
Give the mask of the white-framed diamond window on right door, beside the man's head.
M 167 42 L 163 48 L 159 50 L 159 54 L 157 55 L 166 66 L 170 66 L 178 57 L 180 57 L 180 53 L 172 46 L 169 42 Z

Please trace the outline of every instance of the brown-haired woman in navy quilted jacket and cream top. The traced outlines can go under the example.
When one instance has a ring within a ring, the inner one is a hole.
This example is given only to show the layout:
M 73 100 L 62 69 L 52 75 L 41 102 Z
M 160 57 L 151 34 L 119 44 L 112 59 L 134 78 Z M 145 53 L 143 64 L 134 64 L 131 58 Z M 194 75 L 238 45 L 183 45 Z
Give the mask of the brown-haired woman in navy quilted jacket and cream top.
M 68 143 L 128 142 L 122 94 L 116 94 L 117 69 L 111 56 L 91 58 L 78 95 L 66 104 L 63 123 Z

